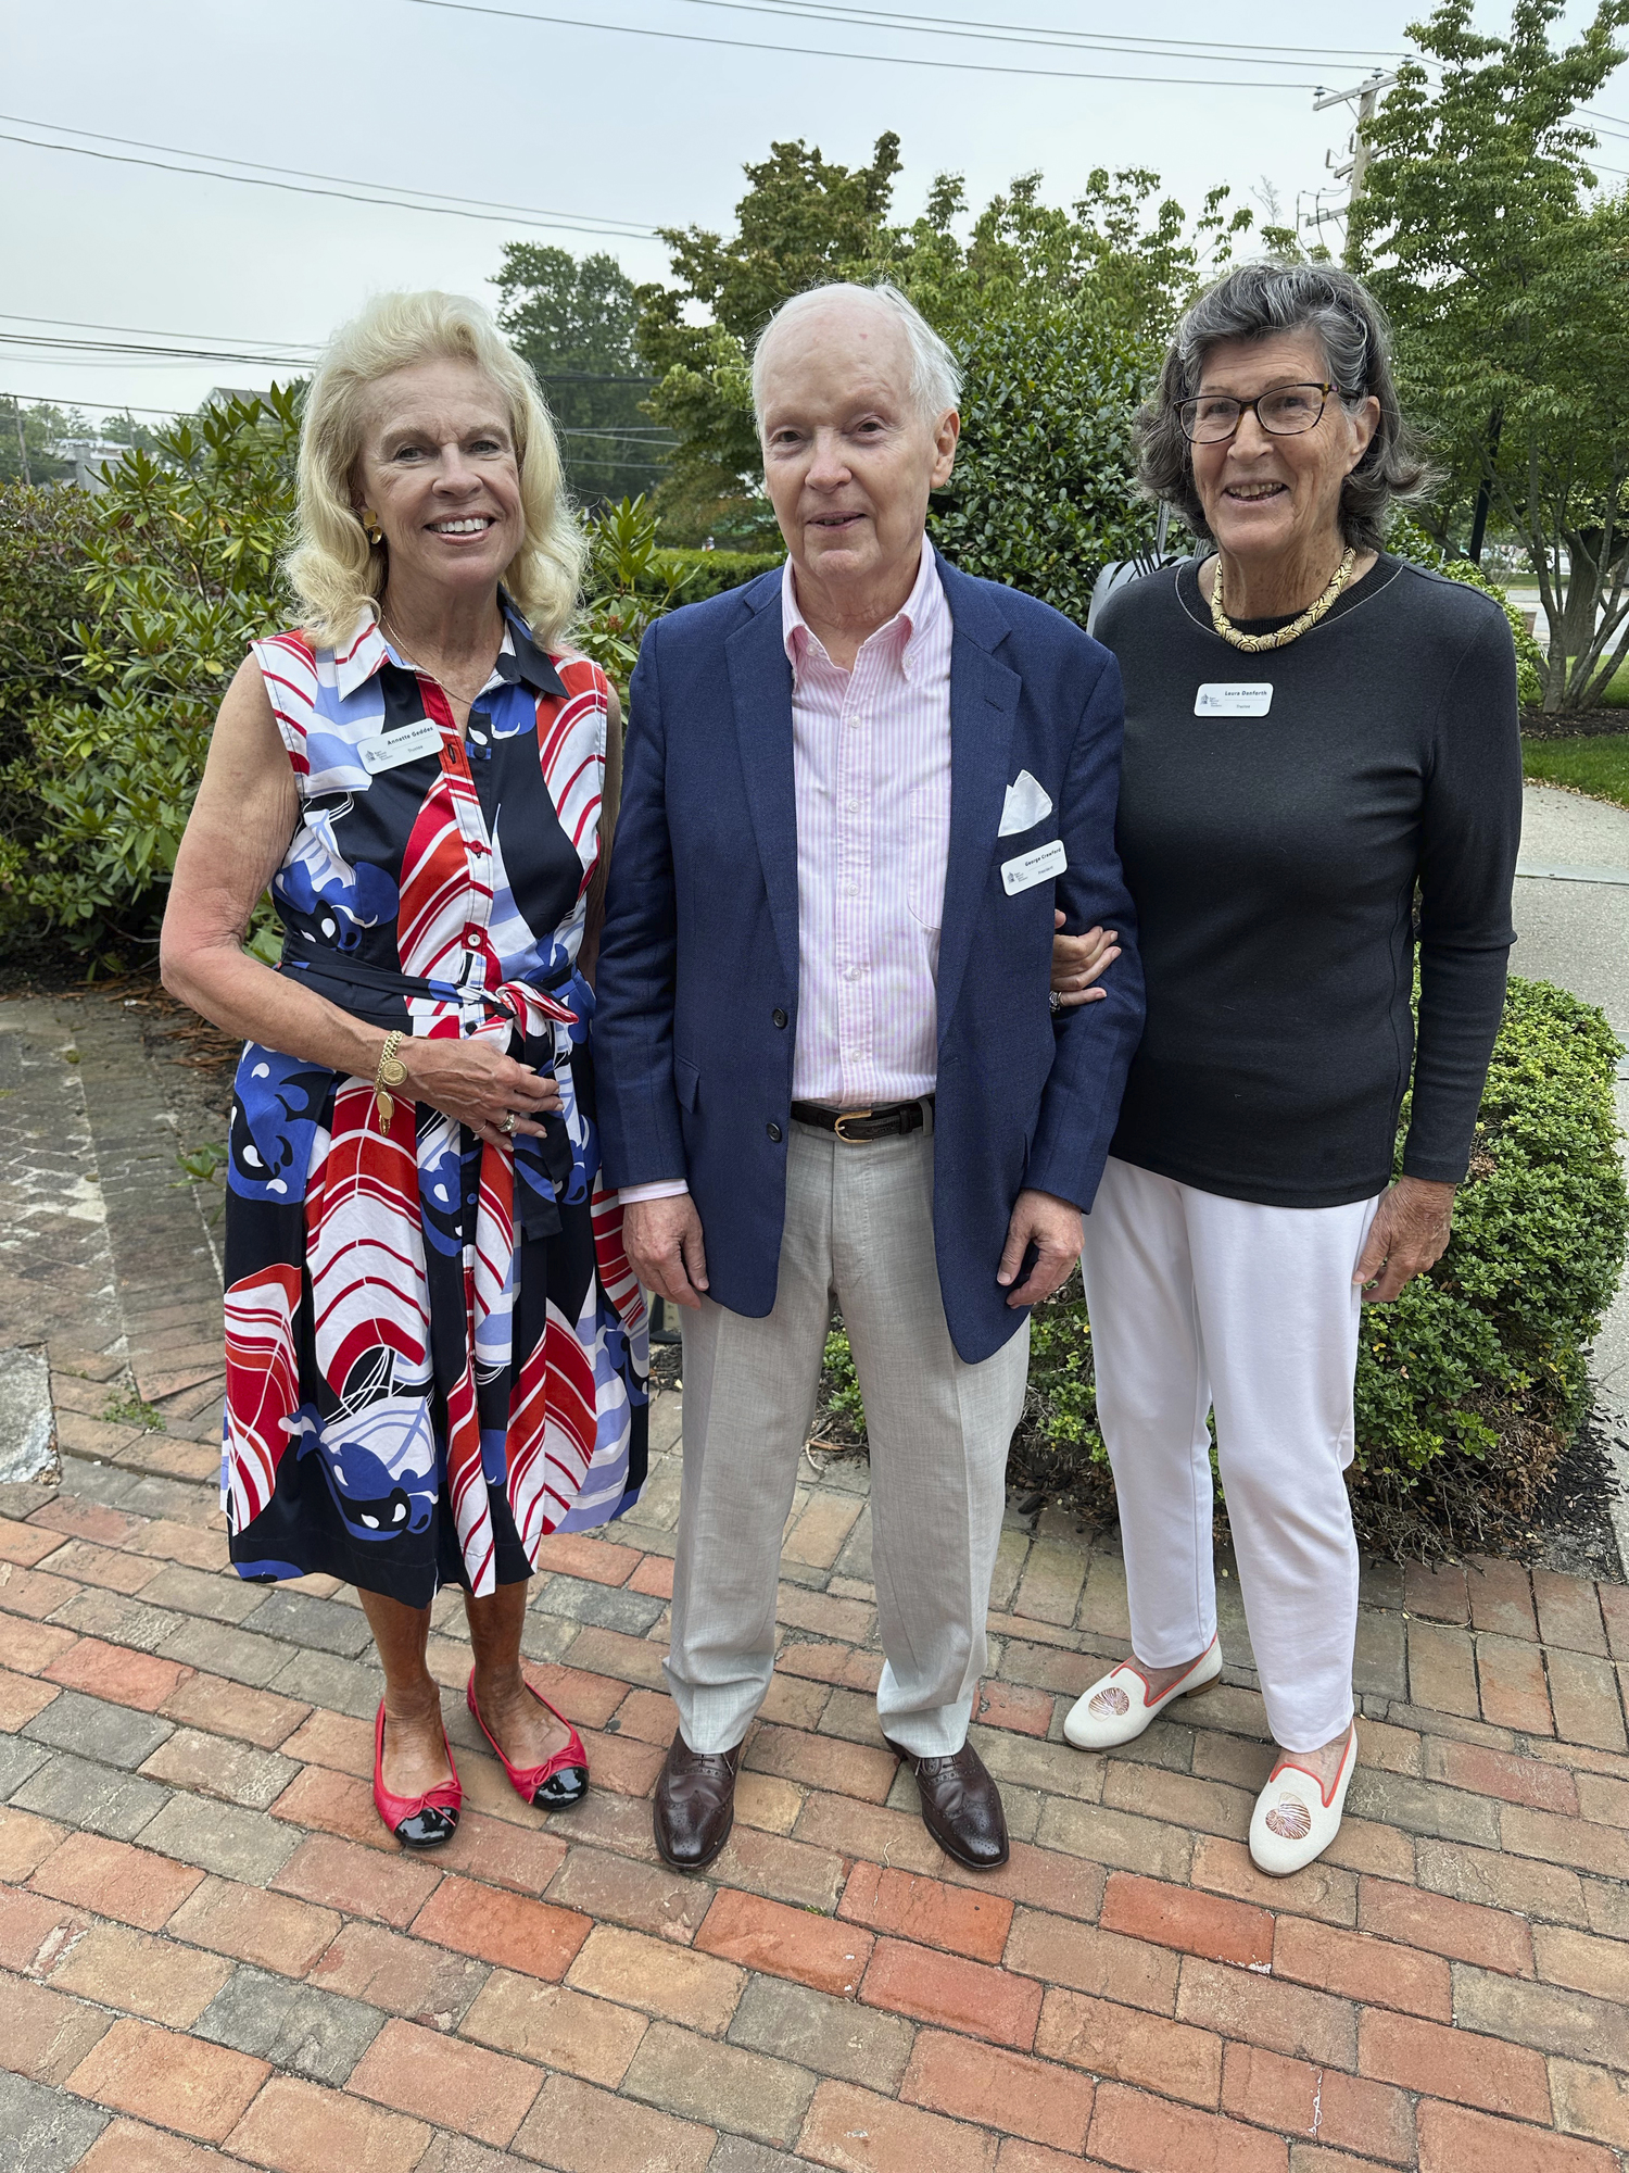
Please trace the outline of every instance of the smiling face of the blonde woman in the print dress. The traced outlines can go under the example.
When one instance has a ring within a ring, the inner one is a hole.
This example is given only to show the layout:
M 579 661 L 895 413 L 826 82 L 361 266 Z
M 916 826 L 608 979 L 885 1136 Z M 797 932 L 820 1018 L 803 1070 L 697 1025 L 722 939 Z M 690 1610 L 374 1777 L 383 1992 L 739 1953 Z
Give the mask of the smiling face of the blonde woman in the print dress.
M 393 582 L 493 589 L 526 535 L 508 400 L 473 363 L 378 378 L 352 493 L 378 515 Z

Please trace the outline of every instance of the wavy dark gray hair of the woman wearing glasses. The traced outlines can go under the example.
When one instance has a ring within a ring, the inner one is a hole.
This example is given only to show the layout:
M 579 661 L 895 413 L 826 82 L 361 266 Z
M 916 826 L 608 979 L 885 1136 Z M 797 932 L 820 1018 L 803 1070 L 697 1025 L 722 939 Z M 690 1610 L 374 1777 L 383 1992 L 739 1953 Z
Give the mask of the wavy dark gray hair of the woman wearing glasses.
M 1368 287 L 1338 265 L 1253 263 L 1216 280 L 1182 317 L 1160 382 L 1136 419 L 1138 476 L 1175 506 L 1197 537 L 1210 537 L 1192 480 L 1192 448 L 1179 409 L 1199 391 L 1210 350 L 1225 339 L 1318 335 L 1325 369 L 1342 406 L 1379 402 L 1368 450 L 1340 491 L 1340 532 L 1355 550 L 1379 550 L 1392 500 L 1414 498 L 1427 467 L 1403 419 L 1392 380 L 1392 335 Z

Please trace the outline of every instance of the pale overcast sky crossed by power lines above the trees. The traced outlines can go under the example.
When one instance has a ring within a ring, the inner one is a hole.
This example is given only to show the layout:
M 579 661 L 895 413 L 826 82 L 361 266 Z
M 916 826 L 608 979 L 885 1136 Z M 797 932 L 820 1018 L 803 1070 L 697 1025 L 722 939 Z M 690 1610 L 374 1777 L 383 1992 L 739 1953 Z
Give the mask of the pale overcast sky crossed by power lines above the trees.
M 0 0 L 0 80 L 15 106 L 0 133 L 126 159 L 182 150 L 256 161 L 337 176 L 317 187 L 445 191 L 645 230 L 728 230 L 741 167 L 771 139 L 804 137 L 847 165 L 886 128 L 904 146 L 904 217 L 940 169 L 962 172 L 980 204 L 1038 167 L 1047 198 L 1069 202 L 1095 165 L 1153 167 L 1190 209 L 1216 183 L 1253 202 L 1266 178 L 1290 211 L 1299 191 L 1310 202 L 1329 187 L 1325 154 L 1349 128 L 1347 109 L 1312 111 L 1312 85 L 1344 87 L 1384 65 L 1425 0 L 1344 11 L 1305 0 L 945 0 L 954 15 L 914 30 L 880 30 L 875 0 L 495 4 L 580 22 L 500 20 L 445 0 Z M 808 20 L 821 9 L 854 20 Z M 927 24 L 936 4 L 904 0 L 901 13 Z M 1479 20 L 1503 28 L 1507 7 L 1483 0 Z M 1142 39 L 1195 41 L 1242 22 L 1264 48 L 1288 50 L 1221 65 L 1003 41 L 988 28 L 951 37 L 954 22 L 1108 37 L 1129 26 Z M 923 65 L 932 61 L 962 65 Z M 1218 78 L 1229 87 L 1214 87 Z M 1603 106 L 1629 122 L 1622 78 Z M 1629 167 L 1629 135 L 1603 159 Z M 74 319 L 282 350 L 321 341 L 374 289 L 452 287 L 491 302 L 487 280 L 506 239 L 610 248 L 636 278 L 667 272 L 662 246 L 636 233 L 593 239 L 506 215 L 445 217 L 17 141 L 0 141 L 0 335 L 11 335 L 0 339 L 0 391 L 87 406 L 193 406 L 211 385 L 261 387 L 278 372 L 87 359 L 17 346 L 17 335 L 104 337 L 43 322 Z

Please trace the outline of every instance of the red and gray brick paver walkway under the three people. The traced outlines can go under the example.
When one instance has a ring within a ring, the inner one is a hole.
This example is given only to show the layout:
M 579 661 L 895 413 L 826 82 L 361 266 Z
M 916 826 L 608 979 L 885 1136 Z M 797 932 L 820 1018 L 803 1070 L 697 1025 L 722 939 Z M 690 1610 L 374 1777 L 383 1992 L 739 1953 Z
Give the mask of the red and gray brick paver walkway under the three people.
M 50 1019 L 9 1010 L 20 1078 L 65 1095 Z M 128 1050 L 98 1056 L 87 1017 L 70 1115 L 96 1132 L 109 1095 L 115 1139 L 141 1080 L 111 1095 L 98 1065 Z M 0 1102 L 20 1136 L 26 1102 Z M 877 1736 L 864 1467 L 810 1467 L 736 1834 L 675 1877 L 647 1801 L 671 1732 L 662 1397 L 639 1512 L 550 1543 L 532 1593 L 534 1680 L 597 1786 L 552 1821 L 510 1795 L 443 1595 L 467 1812 L 404 1858 L 367 1788 L 354 1595 L 226 1571 L 211 1247 L 167 1163 L 143 1247 L 137 1160 L 126 1139 L 76 1165 L 115 1182 L 54 1258 L 48 1202 L 46 1241 L 13 1223 L 0 1252 L 0 1343 L 52 1295 L 35 1341 L 67 1449 L 61 1489 L 0 1493 L 0 2173 L 1629 2166 L 1622 1586 L 1371 1567 L 1368 1762 L 1329 1858 L 1275 1884 L 1245 1849 L 1266 1745 L 1236 1599 L 1227 1684 L 1082 1756 L 1060 1717 L 1125 1651 L 1121 1565 L 1056 1512 L 1012 1519 L 975 1738 L 1014 1851 L 975 1877 Z M 130 1360 L 165 1432 L 104 1417 Z

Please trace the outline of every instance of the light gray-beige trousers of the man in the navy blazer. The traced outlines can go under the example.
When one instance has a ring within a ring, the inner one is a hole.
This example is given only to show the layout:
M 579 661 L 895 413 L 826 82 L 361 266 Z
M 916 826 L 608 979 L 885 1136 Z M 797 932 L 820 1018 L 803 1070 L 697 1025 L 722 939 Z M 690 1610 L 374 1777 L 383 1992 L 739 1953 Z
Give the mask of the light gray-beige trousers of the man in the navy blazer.
M 884 1734 L 958 1751 L 984 1673 L 984 1619 L 1023 1410 L 1027 1323 L 956 1356 L 934 1265 L 934 1141 L 847 1147 L 795 1123 L 775 1310 L 684 1312 L 684 1482 L 667 1684 L 693 1751 L 732 1749 L 775 1665 L 780 1541 L 815 1417 L 832 1297 L 871 1443 L 871 1562 Z

